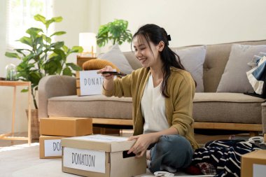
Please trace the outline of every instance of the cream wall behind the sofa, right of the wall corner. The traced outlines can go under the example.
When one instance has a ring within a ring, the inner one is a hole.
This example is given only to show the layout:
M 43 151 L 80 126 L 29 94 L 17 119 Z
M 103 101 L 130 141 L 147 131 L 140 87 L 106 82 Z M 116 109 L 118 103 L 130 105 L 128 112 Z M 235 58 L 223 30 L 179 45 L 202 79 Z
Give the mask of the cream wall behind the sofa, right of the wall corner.
M 133 34 L 143 24 L 158 24 L 177 47 L 265 39 L 265 6 L 265 0 L 102 0 L 100 17 L 101 24 L 128 20 Z

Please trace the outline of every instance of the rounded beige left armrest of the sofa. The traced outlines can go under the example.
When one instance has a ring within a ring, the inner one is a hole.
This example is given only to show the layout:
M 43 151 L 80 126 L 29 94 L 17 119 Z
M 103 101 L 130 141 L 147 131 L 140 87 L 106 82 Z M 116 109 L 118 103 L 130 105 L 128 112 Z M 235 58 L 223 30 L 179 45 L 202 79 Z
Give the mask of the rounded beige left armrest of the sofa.
M 38 118 L 48 118 L 48 99 L 76 94 L 76 78 L 45 76 L 38 83 Z

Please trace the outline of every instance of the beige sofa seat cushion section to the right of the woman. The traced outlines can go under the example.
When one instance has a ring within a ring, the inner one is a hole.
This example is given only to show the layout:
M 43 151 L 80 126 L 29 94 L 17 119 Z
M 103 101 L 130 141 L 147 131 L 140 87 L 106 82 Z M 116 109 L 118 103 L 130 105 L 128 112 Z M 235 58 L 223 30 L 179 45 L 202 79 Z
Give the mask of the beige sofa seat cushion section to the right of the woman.
M 196 93 L 193 118 L 197 122 L 261 124 L 263 102 L 265 99 L 241 93 Z

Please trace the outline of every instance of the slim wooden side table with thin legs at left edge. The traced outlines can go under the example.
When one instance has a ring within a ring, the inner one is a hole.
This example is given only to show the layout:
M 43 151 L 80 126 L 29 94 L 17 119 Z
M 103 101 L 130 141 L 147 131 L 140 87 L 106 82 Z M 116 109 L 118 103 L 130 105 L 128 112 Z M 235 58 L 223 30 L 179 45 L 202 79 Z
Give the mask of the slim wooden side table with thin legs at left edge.
M 0 86 L 6 87 L 14 87 L 13 91 L 13 113 L 12 113 L 12 132 L 6 134 L 0 134 L 0 139 L 6 140 L 27 140 L 29 145 L 31 144 L 31 82 L 24 81 L 8 81 L 8 80 L 0 80 Z M 14 127 L 15 127 L 15 100 L 16 100 L 16 92 L 18 86 L 27 86 L 29 87 L 29 101 L 28 101 L 28 136 L 27 137 L 18 137 L 14 136 Z

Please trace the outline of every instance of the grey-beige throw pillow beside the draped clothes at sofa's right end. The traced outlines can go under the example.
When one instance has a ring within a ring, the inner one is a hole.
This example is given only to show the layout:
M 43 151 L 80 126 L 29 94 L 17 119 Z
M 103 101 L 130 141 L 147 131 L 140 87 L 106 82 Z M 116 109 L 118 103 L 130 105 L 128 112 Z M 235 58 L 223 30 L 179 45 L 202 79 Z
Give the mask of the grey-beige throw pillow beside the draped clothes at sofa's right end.
M 254 92 L 246 77 L 246 72 L 251 69 L 247 63 L 259 52 L 266 52 L 266 45 L 232 44 L 228 63 L 216 92 Z

